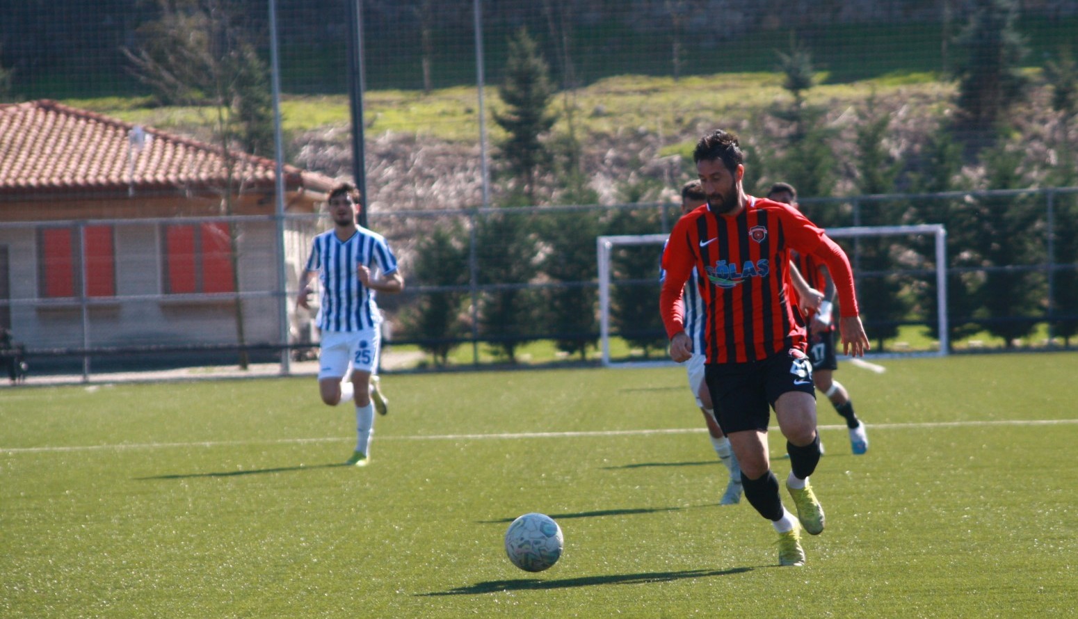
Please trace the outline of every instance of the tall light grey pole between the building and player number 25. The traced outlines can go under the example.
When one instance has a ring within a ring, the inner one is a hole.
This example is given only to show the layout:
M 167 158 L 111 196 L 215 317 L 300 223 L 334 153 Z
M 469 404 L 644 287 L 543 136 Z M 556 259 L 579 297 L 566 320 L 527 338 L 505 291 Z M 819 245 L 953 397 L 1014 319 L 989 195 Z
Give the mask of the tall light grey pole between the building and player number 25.
M 275 215 L 277 221 L 277 339 L 280 341 L 280 373 L 289 372 L 288 348 L 288 278 L 285 269 L 285 145 L 280 130 L 280 58 L 277 56 L 277 0 L 270 0 L 270 83 L 273 87 L 273 139 L 277 194 Z

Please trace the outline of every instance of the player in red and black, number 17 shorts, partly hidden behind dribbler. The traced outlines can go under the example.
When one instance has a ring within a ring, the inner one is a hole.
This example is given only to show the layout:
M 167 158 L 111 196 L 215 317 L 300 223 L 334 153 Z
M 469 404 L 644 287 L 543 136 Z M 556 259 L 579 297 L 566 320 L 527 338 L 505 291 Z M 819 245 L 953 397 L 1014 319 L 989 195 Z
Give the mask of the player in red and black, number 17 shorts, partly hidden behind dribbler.
M 788 204 L 801 210 L 798 204 L 798 190 L 786 182 L 776 182 L 768 191 L 768 200 Z M 834 320 L 832 314 L 834 306 L 834 283 L 827 265 L 820 263 L 811 253 L 792 252 L 793 263 L 816 290 L 824 292 L 824 302 L 819 304 L 816 312 L 806 315 L 808 330 L 808 359 L 812 361 L 812 381 L 816 388 L 827 396 L 827 399 L 834 407 L 834 410 L 846 419 L 846 428 L 849 430 L 849 445 L 855 455 L 862 455 L 869 451 L 869 437 L 865 429 L 865 424 L 857 418 L 854 413 L 854 403 L 849 399 L 849 393 L 842 383 L 832 377 L 834 370 L 839 369 L 839 361 L 834 354 Z M 796 290 L 794 290 L 796 291 Z

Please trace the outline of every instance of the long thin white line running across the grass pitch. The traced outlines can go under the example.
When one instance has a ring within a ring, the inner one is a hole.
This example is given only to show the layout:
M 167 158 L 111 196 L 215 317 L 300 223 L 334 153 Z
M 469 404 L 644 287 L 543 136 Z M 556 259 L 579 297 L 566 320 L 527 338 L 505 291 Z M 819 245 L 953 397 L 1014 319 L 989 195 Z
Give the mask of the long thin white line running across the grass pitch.
M 1078 425 L 1078 419 L 999 419 L 991 422 L 924 422 L 912 424 L 868 424 L 872 429 L 904 429 L 904 428 L 957 428 L 957 427 L 989 427 L 989 426 L 1063 426 Z M 824 430 L 844 430 L 845 425 L 818 426 Z M 777 427 L 771 427 L 771 431 L 778 431 Z M 556 439 L 573 437 L 618 437 L 618 436 L 655 436 L 655 435 L 687 435 L 701 434 L 707 428 L 662 428 L 662 429 L 640 429 L 640 430 L 579 430 L 568 432 L 495 432 L 487 435 L 425 435 L 425 436 L 379 436 L 378 441 L 456 441 L 456 440 L 485 440 L 485 439 Z M 195 441 L 188 443 L 120 443 L 111 445 L 69 445 L 69 446 L 39 446 L 39 448 L 0 448 L 0 453 L 63 453 L 63 452 L 93 452 L 93 451 L 124 451 L 124 450 L 156 450 L 156 449 L 183 449 L 183 448 L 227 448 L 240 445 L 280 445 L 280 444 L 304 444 L 304 443 L 330 443 L 354 441 L 351 437 L 321 437 L 310 439 L 266 439 L 246 441 Z

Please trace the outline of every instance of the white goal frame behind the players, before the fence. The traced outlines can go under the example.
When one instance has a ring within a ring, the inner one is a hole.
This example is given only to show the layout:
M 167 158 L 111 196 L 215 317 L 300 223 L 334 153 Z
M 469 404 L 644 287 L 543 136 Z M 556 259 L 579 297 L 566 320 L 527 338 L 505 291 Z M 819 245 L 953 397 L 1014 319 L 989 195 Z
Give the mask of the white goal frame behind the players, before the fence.
M 946 321 L 946 229 L 939 223 L 918 225 L 858 225 L 851 228 L 829 228 L 827 235 L 832 238 L 858 236 L 913 236 L 931 234 L 936 240 L 936 303 L 939 307 L 939 350 L 929 356 L 944 357 L 951 347 L 948 341 Z M 610 360 L 610 255 L 614 247 L 622 245 L 662 245 L 668 234 L 625 234 L 595 237 L 595 253 L 599 274 L 599 339 L 603 348 L 603 366 L 606 368 L 640 368 L 673 364 L 673 361 L 611 361 Z M 657 252 L 658 256 L 658 252 Z M 657 274 L 658 277 L 658 274 Z M 655 312 L 659 302 L 655 301 Z

